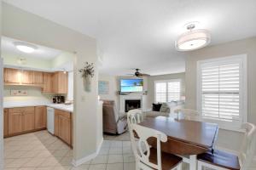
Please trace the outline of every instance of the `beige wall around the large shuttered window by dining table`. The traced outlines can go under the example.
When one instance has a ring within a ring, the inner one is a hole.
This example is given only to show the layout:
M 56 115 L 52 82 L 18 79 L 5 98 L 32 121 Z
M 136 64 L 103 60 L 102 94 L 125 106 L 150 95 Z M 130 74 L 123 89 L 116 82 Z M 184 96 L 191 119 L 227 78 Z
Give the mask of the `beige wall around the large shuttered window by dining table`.
M 256 124 L 256 37 L 227 42 L 195 50 L 186 58 L 186 108 L 196 109 L 196 62 L 237 54 L 247 54 L 247 111 L 248 122 Z M 239 150 L 241 133 L 220 130 L 218 146 Z M 256 164 L 255 164 L 256 165 Z

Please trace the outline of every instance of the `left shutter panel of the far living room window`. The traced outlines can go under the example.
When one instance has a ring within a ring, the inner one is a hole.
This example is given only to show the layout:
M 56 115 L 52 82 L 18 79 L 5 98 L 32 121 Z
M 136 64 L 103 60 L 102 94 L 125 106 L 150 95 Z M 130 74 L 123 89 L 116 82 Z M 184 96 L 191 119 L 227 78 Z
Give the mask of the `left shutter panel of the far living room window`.
M 167 88 L 166 82 L 155 82 L 155 101 L 156 102 L 166 102 Z

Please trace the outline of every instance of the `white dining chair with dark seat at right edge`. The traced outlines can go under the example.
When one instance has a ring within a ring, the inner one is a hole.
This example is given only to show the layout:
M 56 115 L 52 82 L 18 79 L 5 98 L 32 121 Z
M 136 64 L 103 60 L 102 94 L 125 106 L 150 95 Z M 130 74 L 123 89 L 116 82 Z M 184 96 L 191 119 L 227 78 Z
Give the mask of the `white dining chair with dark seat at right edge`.
M 252 123 L 244 123 L 241 128 L 245 130 L 245 135 L 238 156 L 221 150 L 215 150 L 213 154 L 201 154 L 197 156 L 198 170 L 203 167 L 215 170 L 247 170 L 256 150 L 256 127 Z

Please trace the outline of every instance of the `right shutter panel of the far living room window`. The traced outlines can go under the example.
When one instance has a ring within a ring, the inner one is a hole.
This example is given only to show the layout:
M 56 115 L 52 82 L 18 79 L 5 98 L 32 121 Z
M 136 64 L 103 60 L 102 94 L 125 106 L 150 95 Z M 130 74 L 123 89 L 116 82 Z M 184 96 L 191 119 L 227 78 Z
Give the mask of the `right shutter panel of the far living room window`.
M 168 82 L 168 102 L 180 99 L 180 82 Z

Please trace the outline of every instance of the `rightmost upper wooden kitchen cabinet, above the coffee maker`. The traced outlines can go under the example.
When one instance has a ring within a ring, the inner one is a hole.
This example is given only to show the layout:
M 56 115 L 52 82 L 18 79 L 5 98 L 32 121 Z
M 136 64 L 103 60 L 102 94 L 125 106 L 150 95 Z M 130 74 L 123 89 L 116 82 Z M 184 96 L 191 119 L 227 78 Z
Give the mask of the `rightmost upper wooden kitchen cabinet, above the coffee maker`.
M 67 74 L 57 71 L 52 77 L 52 91 L 55 94 L 67 94 Z

